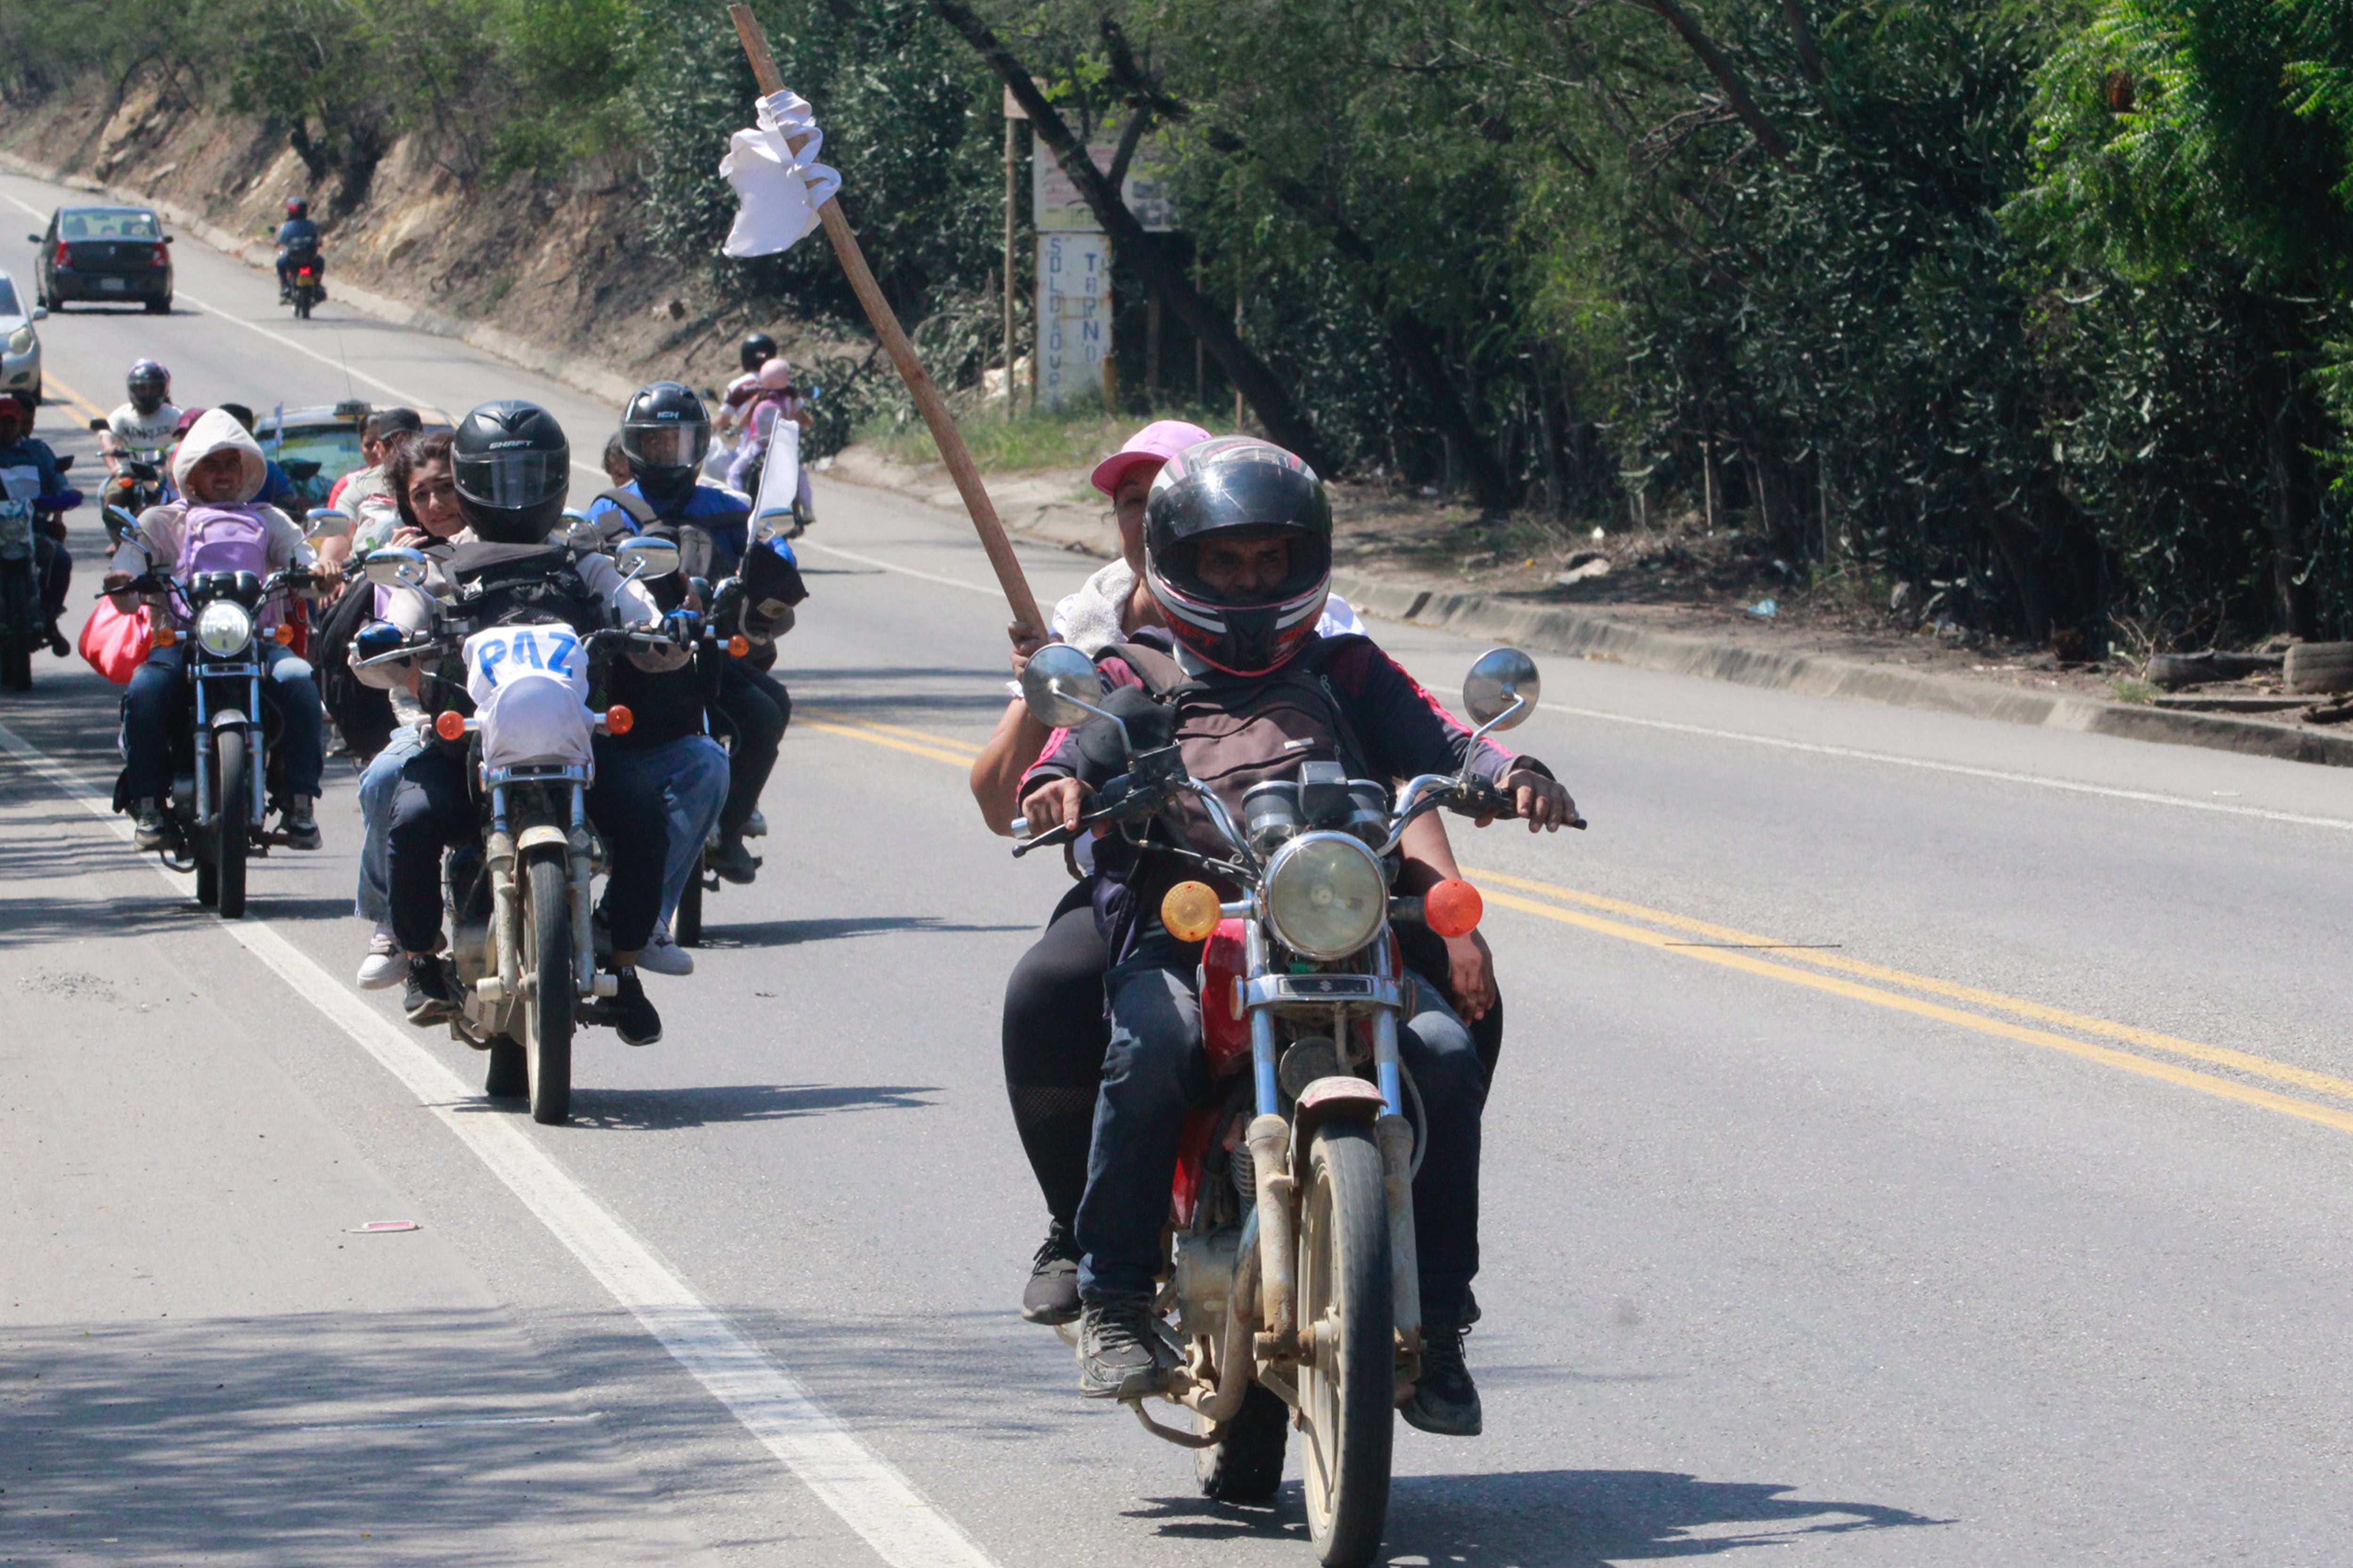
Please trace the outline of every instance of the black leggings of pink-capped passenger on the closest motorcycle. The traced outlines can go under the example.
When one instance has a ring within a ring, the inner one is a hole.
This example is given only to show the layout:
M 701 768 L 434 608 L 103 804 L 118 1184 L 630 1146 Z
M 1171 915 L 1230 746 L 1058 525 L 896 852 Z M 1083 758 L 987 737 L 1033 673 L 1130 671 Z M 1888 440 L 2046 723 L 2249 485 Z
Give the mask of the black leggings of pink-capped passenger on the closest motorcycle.
M 1104 971 L 1111 952 L 1094 924 L 1092 882 L 1080 882 L 1054 905 L 1045 933 L 1005 980 L 1005 1098 L 1014 1131 L 1045 1194 L 1047 1213 L 1066 1227 L 1087 1190 L 1087 1147 L 1094 1143 L 1094 1095 L 1111 1048 L 1104 1018 Z M 1421 926 L 1398 926 L 1407 969 L 1445 976 L 1445 943 Z M 1471 1044 L 1487 1081 L 1504 1051 L 1504 1001 L 1471 1027 Z

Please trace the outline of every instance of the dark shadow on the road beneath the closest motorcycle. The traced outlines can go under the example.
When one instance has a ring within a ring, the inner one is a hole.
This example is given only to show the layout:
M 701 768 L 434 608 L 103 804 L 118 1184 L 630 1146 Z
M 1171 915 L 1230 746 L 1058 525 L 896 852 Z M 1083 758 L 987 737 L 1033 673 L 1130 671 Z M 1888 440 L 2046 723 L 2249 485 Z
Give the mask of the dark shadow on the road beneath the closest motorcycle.
M 1791 1544 L 1805 1535 L 1953 1523 L 1878 1502 L 1795 1497 L 1774 1481 L 1701 1481 L 1668 1469 L 1532 1469 L 1398 1476 L 1384 1563 L 1602 1568 Z M 1153 1497 L 1136 1519 L 1181 1540 L 1306 1540 L 1299 1483 L 1271 1507 Z

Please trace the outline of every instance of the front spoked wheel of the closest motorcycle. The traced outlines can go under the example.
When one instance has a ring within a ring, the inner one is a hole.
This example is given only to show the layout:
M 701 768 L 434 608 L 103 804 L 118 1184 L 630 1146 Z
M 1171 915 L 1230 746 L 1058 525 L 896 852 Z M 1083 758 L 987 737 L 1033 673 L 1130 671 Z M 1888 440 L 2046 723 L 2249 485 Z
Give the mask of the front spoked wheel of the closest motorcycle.
M 1362 1568 L 1388 1523 L 1398 1349 L 1381 1150 L 1358 1121 L 1325 1124 L 1308 1150 L 1299 1324 L 1315 1328 L 1315 1366 L 1299 1368 L 1308 1542 L 1325 1568 Z

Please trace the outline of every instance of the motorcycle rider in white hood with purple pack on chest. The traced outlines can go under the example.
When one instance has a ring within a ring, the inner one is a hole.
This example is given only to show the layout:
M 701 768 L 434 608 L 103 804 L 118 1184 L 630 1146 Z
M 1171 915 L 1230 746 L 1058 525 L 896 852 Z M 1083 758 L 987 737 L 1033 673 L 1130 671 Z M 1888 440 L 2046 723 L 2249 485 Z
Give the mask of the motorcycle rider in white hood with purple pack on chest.
M 172 454 L 172 480 L 186 501 L 151 505 L 139 517 L 139 531 L 122 541 L 106 574 L 106 592 L 115 609 L 129 614 L 132 578 L 181 562 L 202 569 L 235 569 L 266 576 L 289 567 L 311 567 L 311 545 L 301 529 L 273 505 L 252 498 L 261 491 L 266 468 L 261 447 L 221 409 L 205 411 Z M 162 604 L 162 597 L 155 597 Z M 278 757 L 285 764 L 285 797 L 278 799 L 278 827 L 287 849 L 318 849 L 318 802 L 325 766 L 325 717 L 318 705 L 318 682 L 311 665 L 266 632 L 280 618 L 280 604 L 266 602 L 256 616 L 254 651 L 261 658 L 261 689 L 278 703 L 282 722 Z M 172 726 L 186 708 L 188 644 L 148 654 L 122 693 L 122 790 L 136 823 L 139 849 L 162 849 L 172 827 L 162 802 L 172 792 Z

